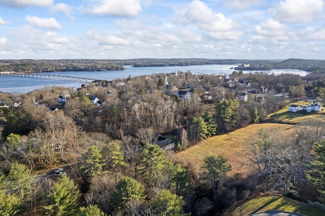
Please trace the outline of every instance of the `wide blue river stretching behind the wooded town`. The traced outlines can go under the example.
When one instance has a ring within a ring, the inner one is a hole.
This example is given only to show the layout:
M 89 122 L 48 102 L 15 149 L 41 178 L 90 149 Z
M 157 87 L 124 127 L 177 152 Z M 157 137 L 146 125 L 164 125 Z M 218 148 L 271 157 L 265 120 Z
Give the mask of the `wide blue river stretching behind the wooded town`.
M 167 74 L 172 73 L 175 70 L 186 72 L 190 70 L 192 74 L 232 74 L 234 68 L 237 65 L 191 65 L 191 66 L 169 66 L 169 67 L 132 67 L 129 65 L 124 66 L 125 70 L 112 70 L 112 71 L 63 71 L 63 72 L 44 72 L 38 73 L 37 75 L 52 75 L 52 76 L 71 76 L 88 78 L 92 80 L 114 80 L 118 78 L 137 77 L 141 75 L 152 75 L 152 74 Z M 250 71 L 244 70 L 244 73 Z M 255 73 L 255 71 L 251 71 Z M 309 72 L 297 69 L 274 69 L 271 71 L 258 71 L 267 74 L 274 73 L 275 75 L 280 74 L 296 74 L 304 77 Z M 26 77 L 12 77 L 12 76 L 0 76 L 0 91 L 12 94 L 25 94 L 35 89 L 44 88 L 45 86 L 64 86 L 64 87 L 81 87 L 80 80 L 70 81 L 69 79 L 42 79 L 42 78 L 26 78 Z

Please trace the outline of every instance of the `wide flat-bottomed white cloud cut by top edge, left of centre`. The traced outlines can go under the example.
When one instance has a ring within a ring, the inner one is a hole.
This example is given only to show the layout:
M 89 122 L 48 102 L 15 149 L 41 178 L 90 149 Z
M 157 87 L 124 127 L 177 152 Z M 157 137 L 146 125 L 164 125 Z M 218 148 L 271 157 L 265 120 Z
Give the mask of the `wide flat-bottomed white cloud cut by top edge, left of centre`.
M 137 16 L 142 12 L 140 0 L 85 0 L 81 10 L 100 16 Z

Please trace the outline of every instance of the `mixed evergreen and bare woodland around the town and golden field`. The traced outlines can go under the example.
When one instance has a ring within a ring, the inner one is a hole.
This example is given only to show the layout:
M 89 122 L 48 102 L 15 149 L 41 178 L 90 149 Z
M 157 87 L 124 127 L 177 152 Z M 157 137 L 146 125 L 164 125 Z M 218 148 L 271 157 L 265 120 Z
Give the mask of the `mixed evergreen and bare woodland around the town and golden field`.
M 211 136 L 266 122 L 286 105 L 275 93 L 324 100 L 323 75 L 307 82 L 288 74 L 178 72 L 166 76 L 168 85 L 157 74 L 1 94 L 0 214 L 232 215 L 265 193 L 324 203 L 322 118 L 286 134 L 261 128 L 238 143 L 254 167 L 248 176 L 228 175 L 233 167 L 223 155 L 206 155 L 202 166 L 175 157 Z M 268 91 L 257 93 L 261 87 Z M 168 139 L 174 148 L 164 150 Z

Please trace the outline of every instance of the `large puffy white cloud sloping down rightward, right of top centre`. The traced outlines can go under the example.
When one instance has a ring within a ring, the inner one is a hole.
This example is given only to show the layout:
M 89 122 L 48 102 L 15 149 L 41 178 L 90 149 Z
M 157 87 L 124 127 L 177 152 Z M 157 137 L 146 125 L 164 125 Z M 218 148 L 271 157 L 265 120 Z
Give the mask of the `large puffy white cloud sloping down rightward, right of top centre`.
M 233 21 L 222 13 L 214 13 L 205 3 L 194 0 L 185 9 L 176 11 L 176 18 L 185 24 L 196 24 L 206 30 L 230 30 Z

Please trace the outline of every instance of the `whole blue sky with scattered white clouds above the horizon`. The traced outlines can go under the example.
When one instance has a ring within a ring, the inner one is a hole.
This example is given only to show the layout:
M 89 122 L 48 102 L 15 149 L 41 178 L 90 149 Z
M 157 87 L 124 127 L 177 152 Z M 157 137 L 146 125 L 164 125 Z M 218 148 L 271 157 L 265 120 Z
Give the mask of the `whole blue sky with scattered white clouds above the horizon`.
M 324 1 L 0 0 L 0 59 L 325 59 Z

